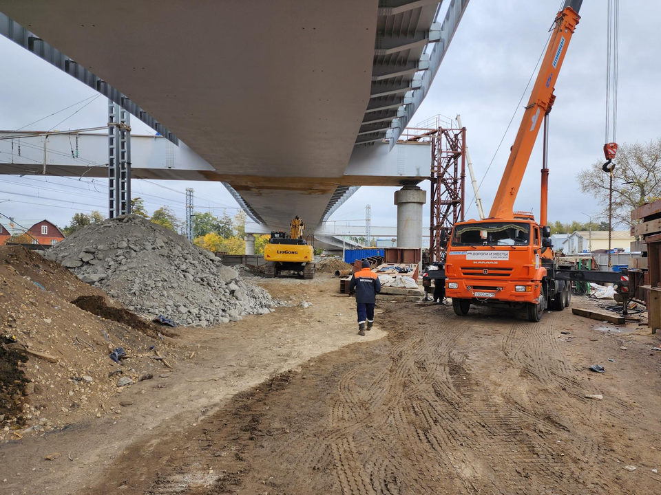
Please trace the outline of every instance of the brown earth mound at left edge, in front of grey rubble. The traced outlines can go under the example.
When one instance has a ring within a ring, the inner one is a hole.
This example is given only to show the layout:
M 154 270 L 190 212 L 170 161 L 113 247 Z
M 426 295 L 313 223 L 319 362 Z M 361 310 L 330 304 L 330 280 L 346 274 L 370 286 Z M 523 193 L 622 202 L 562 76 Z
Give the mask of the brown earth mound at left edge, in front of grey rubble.
M 16 440 L 25 433 L 59 430 L 111 414 L 118 407 L 118 378 L 135 382 L 142 375 L 162 373 L 163 364 L 149 358 L 152 346 L 169 363 L 181 359 L 174 341 L 156 333 L 151 338 L 70 303 L 81 297 L 102 301 L 105 294 L 36 252 L 0 247 L 0 335 L 13 337 L 1 339 L 5 347 L 0 344 L 0 417 L 5 415 L 0 439 Z M 99 305 L 108 314 L 120 311 L 112 300 Z M 25 354 L 21 347 L 47 359 Z M 118 347 L 131 357 L 121 364 L 109 358 Z

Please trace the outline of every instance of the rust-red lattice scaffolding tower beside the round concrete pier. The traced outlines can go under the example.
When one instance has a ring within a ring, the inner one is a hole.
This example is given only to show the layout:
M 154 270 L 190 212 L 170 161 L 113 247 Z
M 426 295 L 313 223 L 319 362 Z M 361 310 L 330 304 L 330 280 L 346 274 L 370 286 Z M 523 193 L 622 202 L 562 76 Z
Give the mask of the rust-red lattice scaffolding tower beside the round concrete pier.
M 437 115 L 401 136 L 403 142 L 428 142 L 430 167 L 430 263 L 441 259 L 443 239 L 450 238 L 452 225 L 463 221 L 466 167 L 466 128 Z

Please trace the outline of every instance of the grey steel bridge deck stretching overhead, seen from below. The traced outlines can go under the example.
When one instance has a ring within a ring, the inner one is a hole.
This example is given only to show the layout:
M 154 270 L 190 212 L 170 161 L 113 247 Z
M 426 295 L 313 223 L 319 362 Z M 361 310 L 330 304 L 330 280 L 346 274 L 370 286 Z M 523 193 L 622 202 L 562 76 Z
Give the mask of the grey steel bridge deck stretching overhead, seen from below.
M 139 104 L 211 168 L 152 178 L 223 181 L 284 228 L 295 214 L 315 225 L 355 190 L 343 179 L 355 144 L 387 147 L 387 129 L 408 122 L 467 3 L 452 0 L 439 28 L 438 0 L 0 0 L 0 33 Z

